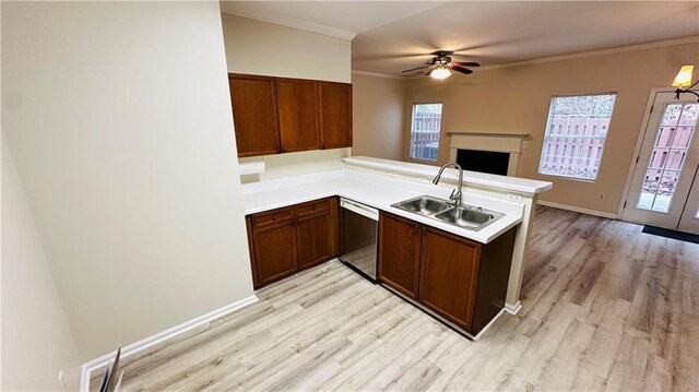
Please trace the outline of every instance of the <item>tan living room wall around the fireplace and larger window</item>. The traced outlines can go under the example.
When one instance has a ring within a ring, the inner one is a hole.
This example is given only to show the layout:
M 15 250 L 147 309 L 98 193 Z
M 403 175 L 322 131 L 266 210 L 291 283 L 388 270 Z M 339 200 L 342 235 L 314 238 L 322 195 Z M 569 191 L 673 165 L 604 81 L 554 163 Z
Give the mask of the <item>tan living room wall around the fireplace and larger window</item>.
M 442 102 L 442 139 L 437 164 L 449 159 L 449 131 L 529 132 L 518 176 L 554 182 L 542 200 L 616 214 L 651 88 L 668 86 L 680 64 L 699 62 L 699 44 L 637 50 L 454 75 L 408 83 L 404 134 L 410 134 L 413 103 Z M 600 175 L 595 182 L 540 176 L 552 95 L 616 92 Z M 407 140 L 407 139 L 406 139 Z M 407 158 L 407 143 L 404 143 Z M 604 200 L 600 200 L 604 193 Z

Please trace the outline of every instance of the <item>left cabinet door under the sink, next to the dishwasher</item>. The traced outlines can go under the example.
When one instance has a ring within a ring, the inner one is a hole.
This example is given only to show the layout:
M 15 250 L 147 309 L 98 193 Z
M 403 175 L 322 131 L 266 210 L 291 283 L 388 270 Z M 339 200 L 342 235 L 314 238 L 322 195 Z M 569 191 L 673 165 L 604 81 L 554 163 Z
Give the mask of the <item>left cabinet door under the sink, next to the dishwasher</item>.
M 379 217 L 379 280 L 416 299 L 419 276 L 420 225 L 381 213 Z

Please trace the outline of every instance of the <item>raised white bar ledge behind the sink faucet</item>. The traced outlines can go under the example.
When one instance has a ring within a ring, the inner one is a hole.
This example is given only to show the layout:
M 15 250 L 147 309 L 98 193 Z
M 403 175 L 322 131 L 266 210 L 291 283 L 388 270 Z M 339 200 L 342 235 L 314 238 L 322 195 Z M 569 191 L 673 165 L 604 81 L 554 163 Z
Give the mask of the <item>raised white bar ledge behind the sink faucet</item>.
M 416 176 L 426 176 L 429 178 L 437 176 L 437 173 L 439 171 L 439 167 L 437 166 L 375 158 L 370 156 L 353 156 L 343 158 L 342 161 L 351 166 L 359 166 L 383 171 L 394 171 Z M 455 181 L 459 179 L 459 171 L 452 168 L 446 169 L 441 178 Z M 541 193 L 549 190 L 553 187 L 553 183 L 548 181 L 530 180 L 519 177 L 496 176 L 469 170 L 463 171 L 463 182 L 528 194 Z

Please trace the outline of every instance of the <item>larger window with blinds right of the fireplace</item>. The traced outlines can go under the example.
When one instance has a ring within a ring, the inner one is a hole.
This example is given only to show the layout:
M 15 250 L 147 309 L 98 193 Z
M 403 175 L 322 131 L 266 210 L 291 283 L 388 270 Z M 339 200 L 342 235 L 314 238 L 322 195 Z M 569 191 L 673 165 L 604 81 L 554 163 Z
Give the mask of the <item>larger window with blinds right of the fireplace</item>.
M 553 97 L 538 174 L 594 181 L 615 99 L 616 94 Z

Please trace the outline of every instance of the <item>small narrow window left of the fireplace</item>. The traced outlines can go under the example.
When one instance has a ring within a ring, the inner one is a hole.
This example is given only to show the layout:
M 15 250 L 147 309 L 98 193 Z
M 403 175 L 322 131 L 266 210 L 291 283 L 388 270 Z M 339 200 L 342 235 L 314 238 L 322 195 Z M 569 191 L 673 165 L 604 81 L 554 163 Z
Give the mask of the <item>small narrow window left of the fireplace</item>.
M 411 122 L 411 158 L 437 161 L 441 104 L 413 105 Z

